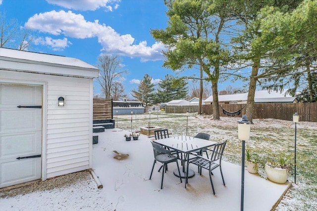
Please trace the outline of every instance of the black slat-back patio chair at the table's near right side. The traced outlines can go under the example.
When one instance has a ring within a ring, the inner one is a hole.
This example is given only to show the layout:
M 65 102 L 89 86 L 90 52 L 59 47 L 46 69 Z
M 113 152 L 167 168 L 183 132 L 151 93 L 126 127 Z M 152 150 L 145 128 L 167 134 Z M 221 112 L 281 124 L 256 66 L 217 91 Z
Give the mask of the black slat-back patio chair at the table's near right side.
M 216 169 L 219 167 L 221 177 L 222 177 L 222 182 L 223 182 L 223 185 L 225 185 L 223 174 L 222 174 L 222 169 L 221 169 L 221 158 L 222 158 L 222 154 L 223 154 L 224 148 L 226 146 L 226 143 L 227 143 L 227 141 L 215 144 L 213 147 L 210 159 L 207 159 L 207 158 L 200 156 L 200 155 L 191 154 L 191 155 L 194 155 L 194 157 L 190 158 L 189 162 L 187 163 L 187 169 L 189 167 L 189 164 L 197 165 L 200 168 L 200 175 L 202 175 L 202 168 L 207 169 L 209 171 L 209 177 L 210 177 L 213 195 L 215 195 L 215 191 L 214 191 L 214 187 L 213 187 L 213 183 L 212 183 L 212 178 L 211 178 L 211 175 L 213 175 L 211 171 L 213 169 Z M 210 149 L 207 149 L 207 150 L 210 150 Z

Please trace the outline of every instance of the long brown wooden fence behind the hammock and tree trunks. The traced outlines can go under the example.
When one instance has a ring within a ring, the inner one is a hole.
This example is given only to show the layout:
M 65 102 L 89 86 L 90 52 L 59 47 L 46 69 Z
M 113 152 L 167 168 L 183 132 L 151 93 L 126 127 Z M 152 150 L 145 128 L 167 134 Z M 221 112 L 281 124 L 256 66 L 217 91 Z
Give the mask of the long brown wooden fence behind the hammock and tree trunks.
M 229 112 L 235 112 L 246 104 L 224 104 L 220 105 Z M 220 117 L 226 117 L 222 108 L 219 107 Z M 203 105 L 202 112 L 213 114 L 213 105 Z M 241 114 L 236 117 L 242 117 L 246 113 L 243 108 Z M 317 103 L 256 103 L 254 104 L 254 119 L 278 119 L 293 121 L 293 114 L 297 112 L 300 115 L 300 121 L 317 122 Z

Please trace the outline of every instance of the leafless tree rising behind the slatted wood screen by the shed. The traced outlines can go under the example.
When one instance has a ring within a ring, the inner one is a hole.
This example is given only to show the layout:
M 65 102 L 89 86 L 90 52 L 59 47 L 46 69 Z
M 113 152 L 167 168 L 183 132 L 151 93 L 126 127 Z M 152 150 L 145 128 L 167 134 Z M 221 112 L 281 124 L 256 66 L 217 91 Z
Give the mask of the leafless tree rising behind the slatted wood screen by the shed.
M 117 55 L 100 55 L 98 57 L 99 82 L 105 98 L 112 98 L 112 94 L 116 93 L 114 89 L 118 87 L 118 82 L 121 81 L 124 74 L 127 74 L 127 70 L 123 70 L 121 59 Z M 121 84 L 122 85 L 122 84 Z M 122 86 L 123 88 L 123 86 Z M 124 92 L 124 90 L 122 91 Z

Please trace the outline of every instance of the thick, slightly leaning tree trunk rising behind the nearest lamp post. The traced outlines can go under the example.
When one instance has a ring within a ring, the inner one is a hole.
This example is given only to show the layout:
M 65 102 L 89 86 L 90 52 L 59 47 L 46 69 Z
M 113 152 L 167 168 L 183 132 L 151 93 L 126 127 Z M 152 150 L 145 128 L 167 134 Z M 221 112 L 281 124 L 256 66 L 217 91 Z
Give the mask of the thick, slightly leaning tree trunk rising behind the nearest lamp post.
M 259 72 L 259 64 L 260 64 L 260 59 L 257 59 L 257 61 L 255 61 L 252 66 L 252 73 L 250 77 L 250 85 L 249 85 L 249 92 L 248 92 L 248 100 L 247 100 L 247 106 L 246 106 L 246 115 L 248 117 L 248 120 L 252 124 L 253 124 L 254 97 L 255 97 L 256 88 L 257 88 L 257 76 Z

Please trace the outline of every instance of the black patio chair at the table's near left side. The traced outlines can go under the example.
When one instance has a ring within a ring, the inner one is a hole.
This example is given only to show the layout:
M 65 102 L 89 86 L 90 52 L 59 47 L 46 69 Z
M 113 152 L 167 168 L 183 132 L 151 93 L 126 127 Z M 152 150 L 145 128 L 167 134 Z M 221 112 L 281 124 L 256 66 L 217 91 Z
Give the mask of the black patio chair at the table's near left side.
M 177 162 L 177 160 L 179 158 L 172 155 L 169 150 L 164 149 L 164 147 L 162 145 L 154 143 L 152 141 L 151 141 L 151 143 L 152 143 L 153 152 L 154 152 L 154 163 L 153 163 L 150 179 L 152 178 L 152 173 L 153 173 L 153 169 L 154 169 L 156 162 L 158 161 L 161 164 L 163 164 L 162 180 L 161 180 L 161 184 L 160 184 L 160 189 L 162 189 L 164 173 L 166 172 L 167 164 L 172 163 L 172 162 L 176 162 L 178 173 L 180 175 L 180 170 L 179 170 L 179 166 L 178 166 L 178 162 Z M 180 178 L 180 182 L 182 182 L 182 178 L 181 177 L 179 177 L 179 178 Z

